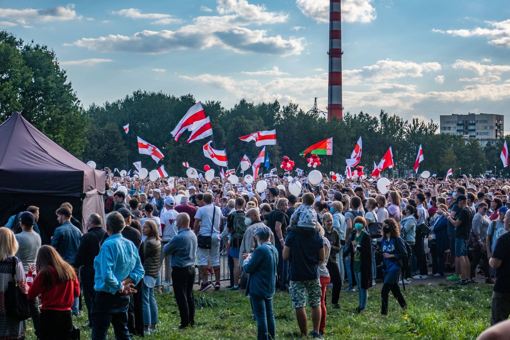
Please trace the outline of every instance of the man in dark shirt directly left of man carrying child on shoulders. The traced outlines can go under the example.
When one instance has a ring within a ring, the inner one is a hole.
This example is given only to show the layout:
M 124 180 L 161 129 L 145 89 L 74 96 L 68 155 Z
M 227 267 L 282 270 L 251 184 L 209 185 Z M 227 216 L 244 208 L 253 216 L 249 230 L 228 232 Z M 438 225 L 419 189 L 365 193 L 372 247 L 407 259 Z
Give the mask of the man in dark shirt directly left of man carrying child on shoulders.
M 282 253 L 285 246 L 285 237 L 287 236 L 287 198 L 279 198 L 275 204 L 274 210 L 267 214 L 264 224 L 267 225 L 274 234 L 274 246 L 278 251 L 278 281 L 276 287 L 281 291 L 287 290 L 288 280 L 288 261 L 284 261 Z M 276 241 L 278 239 L 278 241 Z

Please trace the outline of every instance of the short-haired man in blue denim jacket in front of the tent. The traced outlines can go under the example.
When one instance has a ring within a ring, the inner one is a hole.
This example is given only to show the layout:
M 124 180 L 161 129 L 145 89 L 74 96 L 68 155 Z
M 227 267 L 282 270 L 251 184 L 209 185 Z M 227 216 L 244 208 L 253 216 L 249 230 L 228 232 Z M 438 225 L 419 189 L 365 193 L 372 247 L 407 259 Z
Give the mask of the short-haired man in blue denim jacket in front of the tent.
M 56 214 L 57 221 L 61 226 L 53 232 L 52 247 L 57 250 L 64 261 L 72 266 L 80 246 L 82 233 L 71 223 L 71 210 L 68 207 L 59 208 Z

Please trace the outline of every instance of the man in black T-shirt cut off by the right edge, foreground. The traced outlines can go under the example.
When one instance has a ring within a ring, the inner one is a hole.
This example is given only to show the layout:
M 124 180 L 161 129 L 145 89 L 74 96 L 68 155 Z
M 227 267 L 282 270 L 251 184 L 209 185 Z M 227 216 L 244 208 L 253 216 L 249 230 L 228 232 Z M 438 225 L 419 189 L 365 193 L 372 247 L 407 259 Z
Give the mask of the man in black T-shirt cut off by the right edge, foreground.
M 510 315 L 510 232 L 498 239 L 489 264 L 496 270 L 491 303 L 492 326 Z

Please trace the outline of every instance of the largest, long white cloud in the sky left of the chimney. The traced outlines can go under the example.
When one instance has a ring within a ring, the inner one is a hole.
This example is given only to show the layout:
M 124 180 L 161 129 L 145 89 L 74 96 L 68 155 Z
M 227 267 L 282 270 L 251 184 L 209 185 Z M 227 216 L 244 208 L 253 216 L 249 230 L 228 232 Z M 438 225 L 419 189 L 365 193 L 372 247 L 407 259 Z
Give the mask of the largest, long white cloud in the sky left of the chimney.
M 266 12 L 263 6 L 250 5 L 245 0 L 218 0 L 217 10 L 222 16 L 199 16 L 193 24 L 178 30 L 162 30 L 120 34 L 99 38 L 82 38 L 72 44 L 91 50 L 133 52 L 146 54 L 168 53 L 180 49 L 222 48 L 236 53 L 257 52 L 278 56 L 298 55 L 304 48 L 304 38 L 284 39 L 267 36 L 267 30 L 250 30 L 249 24 L 284 22 L 287 15 Z M 125 12 L 139 15 L 137 11 Z M 138 13 L 138 14 L 137 14 Z M 154 13 L 153 13 L 154 14 Z M 127 14 L 124 14 L 127 15 Z

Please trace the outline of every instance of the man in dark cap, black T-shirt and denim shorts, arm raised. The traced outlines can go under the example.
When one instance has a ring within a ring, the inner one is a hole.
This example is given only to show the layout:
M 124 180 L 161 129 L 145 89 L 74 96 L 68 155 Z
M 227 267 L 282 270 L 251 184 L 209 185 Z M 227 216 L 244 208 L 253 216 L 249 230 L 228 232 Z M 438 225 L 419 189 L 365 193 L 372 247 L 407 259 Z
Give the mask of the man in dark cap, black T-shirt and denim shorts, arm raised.
M 443 211 L 443 216 L 448 216 L 448 221 L 455 228 L 455 263 L 460 266 L 460 274 L 462 279 L 459 281 L 461 284 L 471 283 L 471 270 L 468 258 L 468 234 L 471 227 L 471 220 L 473 219 L 471 209 L 468 207 L 466 195 L 459 195 L 457 199 L 458 207 L 461 210 L 455 218 L 448 215 Z M 450 249 L 451 250 L 451 249 Z

